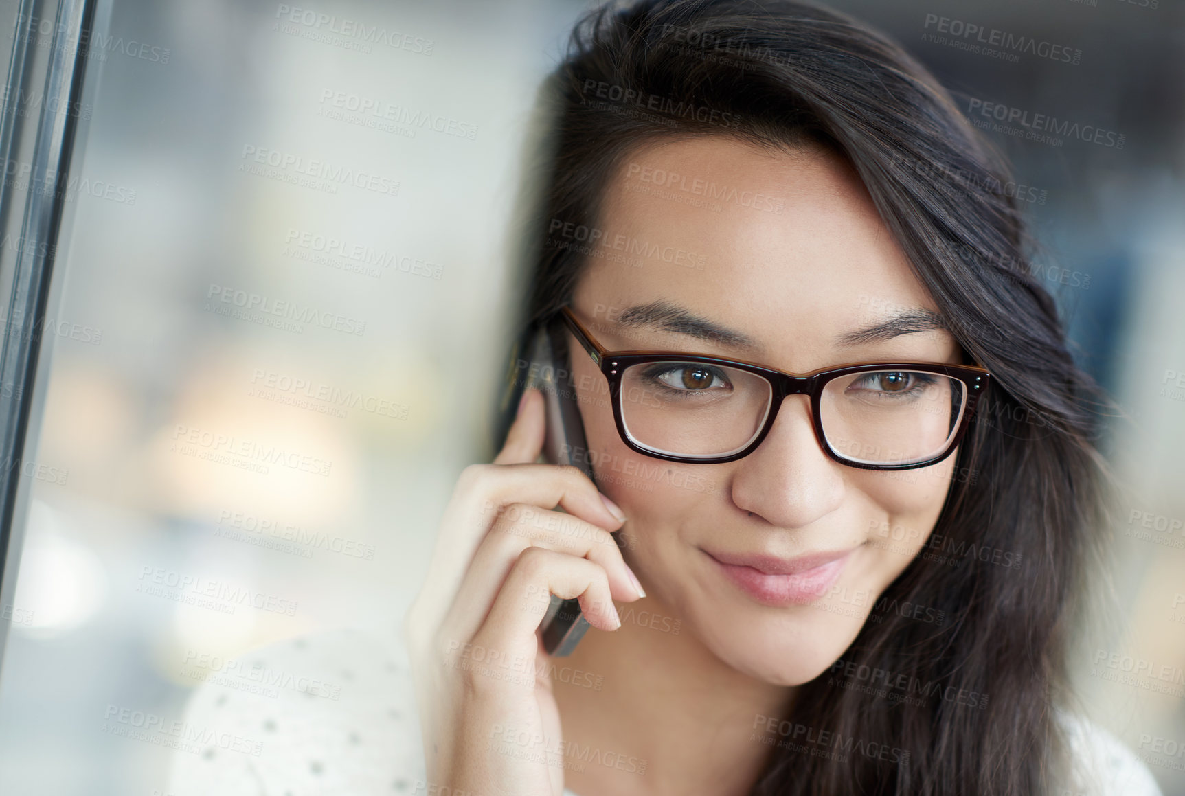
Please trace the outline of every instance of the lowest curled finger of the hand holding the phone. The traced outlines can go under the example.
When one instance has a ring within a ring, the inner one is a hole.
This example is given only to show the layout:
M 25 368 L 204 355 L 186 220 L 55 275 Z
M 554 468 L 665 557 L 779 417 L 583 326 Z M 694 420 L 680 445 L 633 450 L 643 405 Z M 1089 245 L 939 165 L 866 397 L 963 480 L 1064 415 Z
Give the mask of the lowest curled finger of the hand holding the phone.
M 474 646 L 514 657 L 534 655 L 538 650 L 536 629 L 543 620 L 537 605 L 545 604 L 550 595 L 578 598 L 584 617 L 600 630 L 613 631 L 621 627 L 608 577 L 600 565 L 531 547 L 514 561 L 486 621 L 473 636 Z

